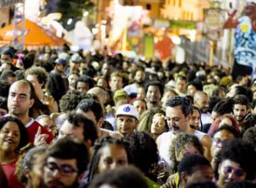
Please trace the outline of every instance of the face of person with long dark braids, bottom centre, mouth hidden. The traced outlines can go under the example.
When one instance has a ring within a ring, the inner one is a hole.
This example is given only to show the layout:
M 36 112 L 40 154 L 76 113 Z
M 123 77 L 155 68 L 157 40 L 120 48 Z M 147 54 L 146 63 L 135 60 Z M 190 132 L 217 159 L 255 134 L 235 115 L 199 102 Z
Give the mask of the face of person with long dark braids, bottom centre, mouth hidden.
M 119 144 L 108 144 L 100 149 L 98 172 L 103 173 L 108 169 L 127 167 L 128 157 L 125 148 Z

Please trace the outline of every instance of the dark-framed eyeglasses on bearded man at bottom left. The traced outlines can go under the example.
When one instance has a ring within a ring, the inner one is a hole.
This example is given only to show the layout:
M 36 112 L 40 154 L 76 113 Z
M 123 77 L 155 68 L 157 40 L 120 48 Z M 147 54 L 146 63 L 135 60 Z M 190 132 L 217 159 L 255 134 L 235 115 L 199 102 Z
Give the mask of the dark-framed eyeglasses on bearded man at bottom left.
M 77 173 L 78 172 L 78 170 L 73 169 L 68 164 L 58 165 L 55 162 L 46 162 L 44 164 L 44 166 L 47 167 L 47 169 L 49 169 L 51 171 L 51 173 L 54 173 L 56 170 L 58 170 L 61 173 L 61 175 L 63 175 L 63 176 L 69 176 L 72 173 Z

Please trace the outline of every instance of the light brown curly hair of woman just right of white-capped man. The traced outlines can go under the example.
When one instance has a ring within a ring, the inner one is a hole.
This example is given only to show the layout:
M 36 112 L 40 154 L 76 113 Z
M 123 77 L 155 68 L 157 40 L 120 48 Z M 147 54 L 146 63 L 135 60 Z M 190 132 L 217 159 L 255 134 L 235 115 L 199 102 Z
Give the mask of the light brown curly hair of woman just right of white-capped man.
M 165 116 L 165 111 L 162 108 L 153 107 L 152 109 L 147 109 L 141 114 L 139 118 L 139 124 L 137 126 L 138 131 L 150 132 L 152 125 L 152 118 L 156 113 L 162 113 Z M 167 123 L 166 123 L 167 125 Z

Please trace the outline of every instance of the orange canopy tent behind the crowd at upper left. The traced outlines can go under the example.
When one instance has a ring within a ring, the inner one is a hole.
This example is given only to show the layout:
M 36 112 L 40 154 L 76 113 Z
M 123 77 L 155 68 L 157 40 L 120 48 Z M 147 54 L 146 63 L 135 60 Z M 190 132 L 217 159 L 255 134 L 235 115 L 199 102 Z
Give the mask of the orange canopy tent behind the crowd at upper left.
M 21 32 L 22 22 L 18 23 L 18 33 Z M 25 19 L 24 27 L 24 46 L 62 46 L 64 43 L 68 43 L 63 38 L 57 37 L 53 32 L 44 30 L 44 28 L 38 26 L 36 23 Z M 0 29 L 0 45 L 5 45 L 13 41 L 14 24 L 12 23 L 5 28 Z M 20 37 L 18 41 L 20 42 Z

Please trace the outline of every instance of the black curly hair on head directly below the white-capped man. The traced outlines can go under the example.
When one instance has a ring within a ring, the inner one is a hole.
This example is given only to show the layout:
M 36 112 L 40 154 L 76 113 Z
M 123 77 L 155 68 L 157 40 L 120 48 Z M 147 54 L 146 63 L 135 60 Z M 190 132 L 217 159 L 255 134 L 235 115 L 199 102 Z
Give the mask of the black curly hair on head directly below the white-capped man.
M 154 166 L 157 165 L 159 157 L 155 140 L 146 132 L 127 134 L 125 140 L 129 142 L 129 150 L 133 155 L 135 167 L 138 167 L 146 177 L 156 181 Z

